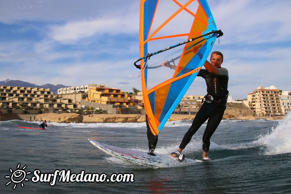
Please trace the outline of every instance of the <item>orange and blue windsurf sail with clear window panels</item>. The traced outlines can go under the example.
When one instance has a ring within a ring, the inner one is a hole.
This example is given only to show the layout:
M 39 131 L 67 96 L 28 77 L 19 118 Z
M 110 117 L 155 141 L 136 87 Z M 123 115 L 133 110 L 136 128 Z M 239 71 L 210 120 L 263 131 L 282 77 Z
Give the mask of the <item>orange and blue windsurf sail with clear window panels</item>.
M 206 0 L 140 0 L 141 58 L 134 65 L 140 68 L 150 149 L 222 34 Z

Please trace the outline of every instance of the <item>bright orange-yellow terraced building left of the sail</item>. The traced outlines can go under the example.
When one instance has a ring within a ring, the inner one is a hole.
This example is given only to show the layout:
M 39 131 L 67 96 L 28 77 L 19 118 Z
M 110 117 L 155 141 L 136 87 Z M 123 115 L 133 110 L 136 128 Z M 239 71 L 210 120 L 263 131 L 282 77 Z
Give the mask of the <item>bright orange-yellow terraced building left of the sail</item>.
M 105 87 L 107 86 L 107 87 Z M 122 106 L 133 106 L 129 102 L 128 95 L 123 94 L 117 88 L 108 88 L 108 85 L 90 84 L 88 85 L 88 101 L 100 104 L 117 104 Z

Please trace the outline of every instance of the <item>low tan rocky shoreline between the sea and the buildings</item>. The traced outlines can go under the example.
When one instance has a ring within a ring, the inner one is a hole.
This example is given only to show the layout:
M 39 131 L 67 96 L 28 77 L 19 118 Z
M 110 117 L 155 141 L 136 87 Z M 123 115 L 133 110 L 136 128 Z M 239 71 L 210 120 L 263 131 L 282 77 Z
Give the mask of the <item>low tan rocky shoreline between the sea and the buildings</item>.
M 239 117 L 228 117 L 229 114 L 224 116 L 224 119 L 228 120 L 256 120 L 256 119 L 267 119 L 267 120 L 281 120 L 283 116 L 278 117 L 255 117 L 255 116 L 239 116 Z M 23 120 L 31 121 L 36 118 L 36 121 L 49 120 L 50 122 L 58 123 L 116 123 L 116 122 L 145 122 L 145 115 L 139 114 L 95 114 L 93 117 L 90 115 L 80 115 L 77 113 L 45 113 L 45 114 L 13 114 L 13 113 L 1 113 L 0 121 L 5 120 Z M 193 120 L 195 115 L 176 115 L 172 114 L 168 121 L 178 120 Z

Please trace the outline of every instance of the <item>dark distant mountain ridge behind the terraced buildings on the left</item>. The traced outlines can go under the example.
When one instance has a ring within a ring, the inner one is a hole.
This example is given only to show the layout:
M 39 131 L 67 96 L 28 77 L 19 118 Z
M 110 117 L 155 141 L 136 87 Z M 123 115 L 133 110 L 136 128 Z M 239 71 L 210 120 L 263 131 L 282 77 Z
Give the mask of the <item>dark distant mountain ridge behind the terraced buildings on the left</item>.
M 58 84 L 58 85 L 52 85 L 50 83 L 47 83 L 45 85 L 35 85 L 33 83 L 29 83 L 29 82 L 25 82 L 25 81 L 21 81 L 21 80 L 10 80 L 10 79 L 6 79 L 5 81 L 0 81 L 0 86 L 24 86 L 24 87 L 37 87 L 37 88 L 49 88 L 49 90 L 51 92 L 54 92 L 54 94 L 56 94 L 57 90 L 59 88 L 67 88 L 70 86 L 64 86 L 62 84 Z

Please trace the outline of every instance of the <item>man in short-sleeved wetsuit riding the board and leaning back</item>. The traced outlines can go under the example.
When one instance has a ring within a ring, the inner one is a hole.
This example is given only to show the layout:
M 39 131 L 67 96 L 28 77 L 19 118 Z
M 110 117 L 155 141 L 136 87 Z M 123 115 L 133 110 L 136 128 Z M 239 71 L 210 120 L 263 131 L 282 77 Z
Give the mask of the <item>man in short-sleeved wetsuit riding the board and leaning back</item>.
M 205 102 L 202 104 L 189 130 L 185 133 L 179 149 L 170 154 L 172 158 L 179 158 L 182 150 L 190 142 L 192 136 L 200 128 L 200 126 L 208 119 L 204 134 L 203 134 L 203 161 L 209 161 L 207 152 L 210 147 L 210 137 L 217 129 L 223 113 L 226 109 L 228 97 L 228 70 L 221 67 L 223 62 L 223 54 L 219 51 L 211 53 L 210 63 L 205 61 L 204 67 L 197 76 L 203 77 L 207 85 L 207 95 L 205 95 Z M 203 98 L 203 99 L 204 99 Z M 202 102 L 203 102 L 202 99 Z M 182 155 L 181 155 L 182 156 Z

